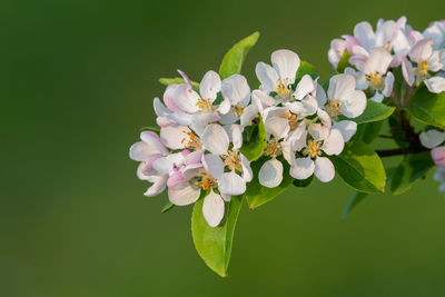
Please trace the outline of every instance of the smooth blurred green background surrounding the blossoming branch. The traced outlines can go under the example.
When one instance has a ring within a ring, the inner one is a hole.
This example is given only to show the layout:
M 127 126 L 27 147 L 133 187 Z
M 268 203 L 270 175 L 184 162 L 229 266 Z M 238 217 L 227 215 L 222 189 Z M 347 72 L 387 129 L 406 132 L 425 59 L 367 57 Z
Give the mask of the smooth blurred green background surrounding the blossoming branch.
M 247 60 L 288 48 L 324 76 L 329 41 L 444 1 L 0 2 L 0 296 L 444 296 L 445 202 L 428 179 L 364 201 L 339 179 L 291 189 L 238 221 L 229 277 L 194 249 L 190 207 L 161 215 L 128 158 L 155 123 L 159 77 L 200 80 L 255 30 Z

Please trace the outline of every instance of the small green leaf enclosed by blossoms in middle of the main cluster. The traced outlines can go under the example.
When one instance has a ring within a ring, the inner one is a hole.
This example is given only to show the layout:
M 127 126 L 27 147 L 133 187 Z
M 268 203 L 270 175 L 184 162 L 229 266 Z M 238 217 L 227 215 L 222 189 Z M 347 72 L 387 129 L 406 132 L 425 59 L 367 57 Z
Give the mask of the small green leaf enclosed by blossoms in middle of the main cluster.
M 263 118 L 257 119 L 258 125 L 246 127 L 243 135 L 241 154 L 249 160 L 258 159 L 267 147 L 266 128 Z

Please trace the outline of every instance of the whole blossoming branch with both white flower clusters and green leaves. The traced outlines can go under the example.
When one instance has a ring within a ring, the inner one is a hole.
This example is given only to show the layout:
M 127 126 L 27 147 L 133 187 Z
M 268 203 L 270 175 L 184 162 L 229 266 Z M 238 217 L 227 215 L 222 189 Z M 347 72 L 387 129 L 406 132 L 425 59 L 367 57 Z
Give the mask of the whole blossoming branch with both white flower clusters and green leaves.
M 276 50 L 249 86 L 240 69 L 258 37 L 236 43 L 200 82 L 180 70 L 161 79 L 158 127 L 142 128 L 130 148 L 151 184 L 145 195 L 167 189 L 162 212 L 195 204 L 194 242 L 212 270 L 227 274 L 243 200 L 254 209 L 314 176 L 329 182 L 337 172 L 356 190 L 345 215 L 367 195 L 406 191 L 434 164 L 445 191 L 444 21 L 423 32 L 404 17 L 375 30 L 360 22 L 332 41 L 335 72 L 325 80 L 296 52 Z M 385 121 L 390 135 L 380 135 Z M 375 151 L 378 136 L 397 148 Z M 398 167 L 385 168 L 380 157 L 390 156 L 403 156 Z

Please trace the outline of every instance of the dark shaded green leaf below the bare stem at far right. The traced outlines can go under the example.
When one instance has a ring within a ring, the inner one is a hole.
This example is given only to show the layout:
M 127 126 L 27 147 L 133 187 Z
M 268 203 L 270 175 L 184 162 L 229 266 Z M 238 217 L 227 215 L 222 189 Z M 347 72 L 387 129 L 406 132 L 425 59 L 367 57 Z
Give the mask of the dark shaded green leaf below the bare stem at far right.
M 390 191 L 400 195 L 411 189 L 434 167 L 429 151 L 405 156 L 390 179 Z

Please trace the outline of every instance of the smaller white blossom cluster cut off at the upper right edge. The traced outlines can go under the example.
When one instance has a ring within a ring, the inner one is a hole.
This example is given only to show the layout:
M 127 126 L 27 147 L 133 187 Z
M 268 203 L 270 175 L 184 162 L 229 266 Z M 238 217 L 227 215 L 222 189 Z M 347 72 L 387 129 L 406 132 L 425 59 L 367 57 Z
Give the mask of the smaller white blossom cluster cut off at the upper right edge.
M 328 59 L 336 69 L 342 59 L 348 59 L 352 67 L 345 73 L 355 76 L 357 88 L 377 102 L 392 96 L 398 67 L 408 86 L 425 83 L 431 92 L 439 93 L 445 91 L 445 22 L 433 22 L 423 32 L 407 24 L 405 17 L 380 19 L 375 31 L 368 22 L 360 22 L 353 36 L 332 41 Z

